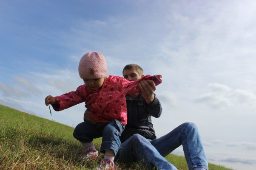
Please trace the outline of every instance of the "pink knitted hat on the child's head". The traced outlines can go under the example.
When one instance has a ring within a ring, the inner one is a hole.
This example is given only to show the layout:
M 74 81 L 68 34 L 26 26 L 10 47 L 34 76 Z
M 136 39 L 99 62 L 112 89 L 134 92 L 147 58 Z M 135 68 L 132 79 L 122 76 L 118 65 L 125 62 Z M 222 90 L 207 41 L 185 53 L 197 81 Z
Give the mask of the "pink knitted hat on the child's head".
M 107 76 L 105 57 L 99 52 L 89 52 L 82 56 L 78 72 L 80 78 L 103 78 Z

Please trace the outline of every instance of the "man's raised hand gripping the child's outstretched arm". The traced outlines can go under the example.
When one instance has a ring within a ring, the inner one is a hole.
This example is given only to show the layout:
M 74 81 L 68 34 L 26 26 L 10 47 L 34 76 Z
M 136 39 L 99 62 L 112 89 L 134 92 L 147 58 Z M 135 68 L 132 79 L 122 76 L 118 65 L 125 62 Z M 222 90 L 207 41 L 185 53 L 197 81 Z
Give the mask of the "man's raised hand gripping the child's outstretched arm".
M 153 80 L 141 80 L 138 83 L 139 90 L 142 93 L 143 98 L 146 100 L 148 105 L 154 101 L 154 92 L 156 90 L 156 85 Z

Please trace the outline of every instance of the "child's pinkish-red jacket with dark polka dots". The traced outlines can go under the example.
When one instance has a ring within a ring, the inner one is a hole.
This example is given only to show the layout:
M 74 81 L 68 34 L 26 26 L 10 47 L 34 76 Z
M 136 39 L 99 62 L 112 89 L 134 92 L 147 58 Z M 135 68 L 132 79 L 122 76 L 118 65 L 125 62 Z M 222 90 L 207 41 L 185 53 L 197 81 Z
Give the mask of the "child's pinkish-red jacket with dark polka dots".
M 95 121 L 106 123 L 116 119 L 126 125 L 125 95 L 138 93 L 138 82 L 142 79 L 151 79 L 156 86 L 161 83 L 156 75 L 146 75 L 137 81 L 128 81 L 122 77 L 109 75 L 99 89 L 92 90 L 85 85 L 81 85 L 76 91 L 54 97 L 59 103 L 59 107 L 53 106 L 53 108 L 56 111 L 61 111 L 85 102 L 85 107 L 90 109 L 91 117 Z

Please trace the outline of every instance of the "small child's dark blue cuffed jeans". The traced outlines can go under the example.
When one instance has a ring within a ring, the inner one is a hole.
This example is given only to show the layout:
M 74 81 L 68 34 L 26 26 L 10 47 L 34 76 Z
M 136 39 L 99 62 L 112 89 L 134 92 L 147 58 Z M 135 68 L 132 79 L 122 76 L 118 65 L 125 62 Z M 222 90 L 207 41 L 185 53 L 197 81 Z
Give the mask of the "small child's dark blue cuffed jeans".
M 124 127 L 125 125 L 122 125 L 118 120 L 96 124 L 85 121 L 76 126 L 73 136 L 80 142 L 92 142 L 93 139 L 102 137 L 100 152 L 105 153 L 106 149 L 111 149 L 116 155 L 121 147 L 119 137 Z

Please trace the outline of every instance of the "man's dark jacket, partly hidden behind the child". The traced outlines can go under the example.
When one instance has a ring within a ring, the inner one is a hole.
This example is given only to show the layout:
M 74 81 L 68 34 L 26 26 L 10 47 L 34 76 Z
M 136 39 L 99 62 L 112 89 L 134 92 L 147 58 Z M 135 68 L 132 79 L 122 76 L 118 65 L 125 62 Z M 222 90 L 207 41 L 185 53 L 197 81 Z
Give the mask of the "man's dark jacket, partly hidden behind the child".
M 156 95 L 151 105 L 147 105 L 141 93 L 136 100 L 131 99 L 128 95 L 125 97 L 128 120 L 120 137 L 121 142 L 129 139 L 133 134 L 140 134 L 146 139 L 156 139 L 151 116 L 157 118 L 162 114 L 162 106 Z

